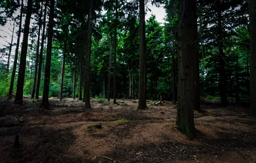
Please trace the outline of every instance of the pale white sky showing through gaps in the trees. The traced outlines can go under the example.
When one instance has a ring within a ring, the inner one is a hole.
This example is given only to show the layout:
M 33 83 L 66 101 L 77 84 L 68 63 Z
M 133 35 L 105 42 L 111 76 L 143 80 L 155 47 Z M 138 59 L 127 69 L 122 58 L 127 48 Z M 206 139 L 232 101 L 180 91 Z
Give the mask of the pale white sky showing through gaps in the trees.
M 164 23 L 165 20 L 165 9 L 163 8 L 163 5 L 160 8 L 157 8 L 155 6 L 152 6 L 151 4 L 148 4 L 149 9 L 151 9 L 151 12 L 147 12 L 146 15 L 146 20 L 150 17 L 151 14 L 155 15 L 156 20 L 160 23 Z M 103 12 L 104 13 L 104 12 Z M 15 15 L 20 15 L 20 9 L 18 9 L 18 11 L 15 13 Z M 32 15 L 33 17 L 33 15 Z M 22 21 L 22 27 L 24 27 L 24 19 L 25 17 L 23 17 L 23 21 Z M 31 22 L 33 22 L 34 20 L 31 19 L 30 21 L 30 26 L 31 26 Z M 2 36 L 2 38 L 0 38 L 0 48 L 4 48 L 6 45 L 9 46 L 9 43 L 11 42 L 11 38 L 12 38 L 12 27 L 13 27 L 13 21 L 8 21 L 6 23 L 5 26 L 0 26 L 0 35 Z M 15 24 L 15 31 L 14 31 L 14 38 L 13 38 L 13 43 L 17 42 L 17 31 L 18 31 L 18 26 L 17 24 Z M 41 30 L 42 33 L 42 30 Z M 21 38 L 20 38 L 20 43 L 22 42 L 23 39 L 23 33 L 21 33 Z M 11 52 L 11 63 L 12 64 L 12 58 L 14 57 L 15 54 L 15 48 L 16 46 L 12 46 L 12 52 Z M 21 46 L 19 47 L 19 51 L 21 51 Z M 8 53 L 8 51 L 6 51 Z M 4 56 L 4 54 L 0 53 L 0 60 L 7 60 L 7 56 Z

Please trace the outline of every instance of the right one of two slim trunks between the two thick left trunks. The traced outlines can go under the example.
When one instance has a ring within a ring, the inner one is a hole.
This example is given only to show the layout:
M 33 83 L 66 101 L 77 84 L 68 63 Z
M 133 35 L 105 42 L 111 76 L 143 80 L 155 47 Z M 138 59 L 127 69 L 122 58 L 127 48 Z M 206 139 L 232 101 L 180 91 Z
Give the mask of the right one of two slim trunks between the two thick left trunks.
M 41 83 L 41 71 L 42 71 L 42 62 L 43 62 L 43 44 L 44 44 L 45 29 L 46 29 L 47 3 L 48 3 L 48 0 L 46 0 L 44 15 L 43 15 L 43 33 L 42 33 L 41 49 L 40 49 L 40 56 L 39 56 L 38 75 L 37 75 L 37 89 L 36 89 L 36 97 L 35 97 L 35 99 L 37 99 L 37 100 L 39 98 L 39 90 L 40 90 L 40 83 Z

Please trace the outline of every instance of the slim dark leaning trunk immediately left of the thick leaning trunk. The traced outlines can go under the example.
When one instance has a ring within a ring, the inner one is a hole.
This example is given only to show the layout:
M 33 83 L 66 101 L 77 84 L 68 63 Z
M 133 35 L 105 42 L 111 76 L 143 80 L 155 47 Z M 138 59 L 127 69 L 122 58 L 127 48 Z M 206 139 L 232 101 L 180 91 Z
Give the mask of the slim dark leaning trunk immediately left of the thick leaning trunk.
M 21 14 L 20 14 L 20 21 L 19 21 L 19 26 L 18 26 L 18 37 L 17 37 L 17 44 L 16 44 L 16 49 L 15 49 L 14 62 L 13 62 L 13 67 L 12 67 L 12 77 L 11 77 L 10 87 L 9 87 L 9 92 L 8 92 L 9 99 L 12 98 L 12 90 L 13 90 L 14 78 L 15 78 L 16 67 L 17 67 L 18 48 L 19 48 L 20 37 L 21 37 L 22 14 L 23 14 L 23 0 L 21 0 Z

